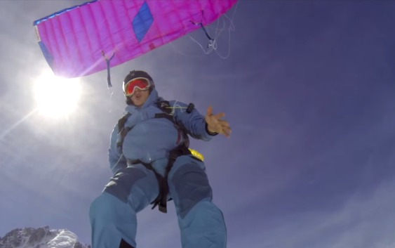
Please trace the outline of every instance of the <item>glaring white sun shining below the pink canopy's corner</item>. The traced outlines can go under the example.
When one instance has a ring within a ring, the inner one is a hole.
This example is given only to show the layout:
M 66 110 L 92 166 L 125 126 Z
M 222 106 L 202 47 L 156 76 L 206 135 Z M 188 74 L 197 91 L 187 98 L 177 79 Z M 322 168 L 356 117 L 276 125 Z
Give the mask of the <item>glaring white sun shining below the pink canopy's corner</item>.
M 77 107 L 80 93 L 79 79 L 56 77 L 52 72 L 42 74 L 34 85 L 39 112 L 48 117 L 71 114 Z

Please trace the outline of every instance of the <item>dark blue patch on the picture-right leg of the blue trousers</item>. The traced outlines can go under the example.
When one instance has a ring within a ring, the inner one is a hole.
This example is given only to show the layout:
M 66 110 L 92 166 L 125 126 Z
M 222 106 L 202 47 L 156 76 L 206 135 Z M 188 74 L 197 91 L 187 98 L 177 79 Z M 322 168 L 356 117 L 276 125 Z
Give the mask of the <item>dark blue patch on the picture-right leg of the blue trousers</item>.
M 199 165 L 182 165 L 175 171 L 172 183 L 177 194 L 181 218 L 185 218 L 201 200 L 213 199 L 213 190 L 208 183 L 208 177 Z

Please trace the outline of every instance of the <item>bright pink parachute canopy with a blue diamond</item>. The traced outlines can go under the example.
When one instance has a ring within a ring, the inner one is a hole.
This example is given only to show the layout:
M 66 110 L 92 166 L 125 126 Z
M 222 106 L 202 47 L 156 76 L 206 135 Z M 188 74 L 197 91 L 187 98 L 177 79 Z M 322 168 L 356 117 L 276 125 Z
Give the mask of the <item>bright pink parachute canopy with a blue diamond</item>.
M 55 75 L 83 77 L 105 70 L 105 58 L 120 65 L 209 25 L 236 1 L 96 0 L 36 20 L 34 28 Z

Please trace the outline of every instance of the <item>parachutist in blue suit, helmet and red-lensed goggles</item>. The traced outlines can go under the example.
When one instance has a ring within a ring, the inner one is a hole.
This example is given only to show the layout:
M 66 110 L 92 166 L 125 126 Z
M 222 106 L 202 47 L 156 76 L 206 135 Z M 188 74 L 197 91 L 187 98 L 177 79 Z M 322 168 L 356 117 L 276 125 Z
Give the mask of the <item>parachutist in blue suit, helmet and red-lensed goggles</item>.
M 205 164 L 185 150 L 188 136 L 203 141 L 217 134 L 229 137 L 232 129 L 222 119 L 225 114 L 213 115 L 208 107 L 205 117 L 191 105 L 163 100 L 144 71 L 130 72 L 123 91 L 127 115 L 114 127 L 109 147 L 114 176 L 89 212 L 92 248 L 135 248 L 136 214 L 154 203 L 166 212 L 171 199 L 182 248 L 225 248 L 225 221 L 212 202 Z

